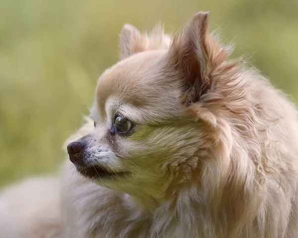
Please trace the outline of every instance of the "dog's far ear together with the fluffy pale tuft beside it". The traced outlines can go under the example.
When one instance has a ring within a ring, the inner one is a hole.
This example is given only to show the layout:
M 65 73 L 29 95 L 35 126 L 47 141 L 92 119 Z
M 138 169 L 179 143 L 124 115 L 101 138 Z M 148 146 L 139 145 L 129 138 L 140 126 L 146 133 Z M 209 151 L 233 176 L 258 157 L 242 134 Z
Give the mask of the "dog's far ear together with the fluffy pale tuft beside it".
M 135 26 L 125 24 L 120 34 L 120 59 L 148 50 L 167 50 L 171 37 L 164 34 L 163 27 L 158 24 L 152 32 L 141 33 Z

